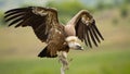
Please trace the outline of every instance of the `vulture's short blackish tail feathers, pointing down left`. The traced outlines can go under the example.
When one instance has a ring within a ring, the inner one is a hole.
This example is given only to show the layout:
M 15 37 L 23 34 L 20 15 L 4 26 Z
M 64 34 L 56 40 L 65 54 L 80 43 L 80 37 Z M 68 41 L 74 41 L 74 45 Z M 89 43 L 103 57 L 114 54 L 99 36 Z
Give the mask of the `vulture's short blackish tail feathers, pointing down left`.
M 57 57 L 57 54 L 55 55 L 51 55 L 50 51 L 48 51 L 48 46 L 38 54 L 38 57 L 40 58 L 55 58 Z

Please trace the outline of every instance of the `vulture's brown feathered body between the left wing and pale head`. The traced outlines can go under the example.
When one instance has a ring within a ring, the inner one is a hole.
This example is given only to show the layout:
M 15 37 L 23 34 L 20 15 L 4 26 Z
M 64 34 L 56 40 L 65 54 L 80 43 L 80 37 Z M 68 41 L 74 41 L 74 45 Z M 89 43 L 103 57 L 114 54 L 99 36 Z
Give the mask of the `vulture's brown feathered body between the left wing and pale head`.
M 49 37 L 47 39 L 47 49 L 49 52 L 49 57 L 54 58 L 57 55 L 57 51 L 64 50 L 64 51 L 68 51 L 68 49 L 65 49 L 65 47 L 67 47 L 67 45 L 65 45 L 65 32 L 63 27 L 58 27 L 58 28 L 51 28 L 49 32 Z M 42 54 L 42 53 L 41 53 Z M 39 55 L 42 57 L 42 55 Z M 44 55 L 46 57 L 46 55 Z M 47 55 L 48 57 L 48 55 Z

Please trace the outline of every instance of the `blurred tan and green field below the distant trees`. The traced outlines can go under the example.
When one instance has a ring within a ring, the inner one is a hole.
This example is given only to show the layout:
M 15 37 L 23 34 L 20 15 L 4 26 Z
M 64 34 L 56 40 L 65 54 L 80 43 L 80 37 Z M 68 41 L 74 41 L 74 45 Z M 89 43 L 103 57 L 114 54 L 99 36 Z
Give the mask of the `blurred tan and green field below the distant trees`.
M 99 48 L 72 50 L 66 74 L 130 74 L 129 17 L 119 17 L 117 9 L 94 15 L 105 40 Z M 113 24 L 115 17 L 118 24 Z M 0 27 L 0 74 L 60 74 L 57 59 L 37 57 L 43 47 L 30 27 Z

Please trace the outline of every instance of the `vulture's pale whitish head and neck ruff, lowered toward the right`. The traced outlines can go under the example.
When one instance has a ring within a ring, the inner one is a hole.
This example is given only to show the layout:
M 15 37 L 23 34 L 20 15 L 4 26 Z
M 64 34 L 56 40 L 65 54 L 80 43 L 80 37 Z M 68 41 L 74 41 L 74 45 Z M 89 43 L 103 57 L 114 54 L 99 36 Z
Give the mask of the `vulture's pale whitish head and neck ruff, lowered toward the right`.
M 81 47 L 81 45 L 79 45 L 77 42 L 78 38 L 76 36 L 69 36 L 66 39 L 66 42 L 68 44 L 68 47 L 70 49 L 75 49 L 75 50 L 83 50 L 83 48 Z

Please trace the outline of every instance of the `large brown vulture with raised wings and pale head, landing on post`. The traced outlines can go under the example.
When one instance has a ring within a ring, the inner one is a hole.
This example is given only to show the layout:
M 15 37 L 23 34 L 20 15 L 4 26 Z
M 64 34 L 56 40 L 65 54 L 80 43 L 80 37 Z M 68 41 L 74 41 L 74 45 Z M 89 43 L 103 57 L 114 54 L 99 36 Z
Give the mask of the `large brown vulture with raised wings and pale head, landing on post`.
M 60 24 L 57 11 L 52 8 L 28 7 L 12 9 L 5 12 L 5 22 L 9 26 L 30 26 L 36 36 L 47 46 L 38 54 L 40 58 L 58 57 L 63 63 L 67 63 L 66 57 L 69 49 L 81 50 L 77 39 L 88 47 L 98 47 L 103 36 L 99 32 L 95 20 L 87 11 L 79 11 L 66 25 Z

